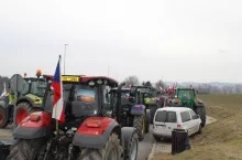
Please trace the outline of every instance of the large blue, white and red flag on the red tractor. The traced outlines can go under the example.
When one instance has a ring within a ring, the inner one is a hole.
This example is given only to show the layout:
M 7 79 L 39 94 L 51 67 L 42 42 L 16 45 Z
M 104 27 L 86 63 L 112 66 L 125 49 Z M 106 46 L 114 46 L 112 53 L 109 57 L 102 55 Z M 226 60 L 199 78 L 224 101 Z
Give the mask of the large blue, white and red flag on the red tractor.
M 64 106 L 63 106 L 64 103 L 63 103 L 63 83 L 62 83 L 62 73 L 61 73 L 61 56 L 55 70 L 52 87 L 54 89 L 52 118 L 55 118 L 59 120 L 61 124 L 63 124 L 65 121 L 65 116 L 64 116 Z

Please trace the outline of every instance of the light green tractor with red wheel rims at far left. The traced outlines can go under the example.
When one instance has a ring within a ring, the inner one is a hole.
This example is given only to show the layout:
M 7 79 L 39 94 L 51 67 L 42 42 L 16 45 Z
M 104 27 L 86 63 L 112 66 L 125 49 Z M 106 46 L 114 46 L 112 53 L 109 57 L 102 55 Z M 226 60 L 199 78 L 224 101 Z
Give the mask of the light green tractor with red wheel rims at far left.
M 0 128 L 11 124 L 16 127 L 31 113 L 42 110 L 42 99 L 51 78 L 42 76 L 40 71 L 36 77 L 14 74 L 7 85 L 8 95 L 0 99 Z

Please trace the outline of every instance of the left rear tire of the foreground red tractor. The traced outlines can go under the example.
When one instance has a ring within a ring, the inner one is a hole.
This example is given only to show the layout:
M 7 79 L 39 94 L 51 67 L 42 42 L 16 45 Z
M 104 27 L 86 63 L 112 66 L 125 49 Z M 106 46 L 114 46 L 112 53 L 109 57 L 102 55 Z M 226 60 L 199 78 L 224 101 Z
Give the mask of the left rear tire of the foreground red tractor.
M 46 140 L 38 139 L 18 139 L 10 147 L 10 154 L 7 160 L 41 160 L 40 150 L 46 146 Z

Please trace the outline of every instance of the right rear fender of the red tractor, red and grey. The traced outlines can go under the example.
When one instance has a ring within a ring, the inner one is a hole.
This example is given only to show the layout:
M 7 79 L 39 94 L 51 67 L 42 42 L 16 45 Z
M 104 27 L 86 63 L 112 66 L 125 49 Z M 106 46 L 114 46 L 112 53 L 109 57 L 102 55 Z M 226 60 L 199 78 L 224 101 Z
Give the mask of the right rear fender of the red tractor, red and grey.
M 99 126 L 95 127 L 92 124 Z M 108 117 L 89 117 L 78 128 L 74 136 L 73 145 L 101 149 L 106 145 L 111 132 L 117 132 L 119 139 L 121 139 L 121 127 L 114 119 Z

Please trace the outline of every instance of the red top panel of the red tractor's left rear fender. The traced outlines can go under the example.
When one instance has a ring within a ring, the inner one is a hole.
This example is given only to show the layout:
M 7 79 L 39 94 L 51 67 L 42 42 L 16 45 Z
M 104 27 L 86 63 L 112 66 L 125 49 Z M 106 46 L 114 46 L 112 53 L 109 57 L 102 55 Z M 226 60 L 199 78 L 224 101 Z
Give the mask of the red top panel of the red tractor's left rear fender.
M 28 116 L 26 118 L 24 118 L 21 121 L 20 126 L 25 127 L 25 128 L 41 128 L 41 127 L 52 126 L 52 115 L 51 114 L 44 113 L 44 111 L 36 111 L 33 114 L 40 116 L 38 121 L 31 121 L 30 116 Z

